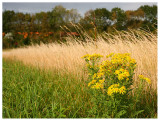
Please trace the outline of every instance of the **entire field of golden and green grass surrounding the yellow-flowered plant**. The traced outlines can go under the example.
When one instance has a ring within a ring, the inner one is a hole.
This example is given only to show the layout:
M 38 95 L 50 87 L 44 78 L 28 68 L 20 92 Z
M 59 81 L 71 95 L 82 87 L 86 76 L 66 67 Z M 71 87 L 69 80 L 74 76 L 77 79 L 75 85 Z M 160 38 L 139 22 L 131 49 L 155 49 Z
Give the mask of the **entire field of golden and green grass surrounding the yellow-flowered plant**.
M 85 35 L 85 34 L 84 34 Z M 85 54 L 131 53 L 138 75 L 151 79 L 151 89 L 130 95 L 134 110 L 142 113 L 123 118 L 157 117 L 157 36 L 144 31 L 104 33 L 86 43 L 68 38 L 65 44 L 33 45 L 3 52 L 3 118 L 105 118 L 93 115 L 94 104 L 87 86 Z

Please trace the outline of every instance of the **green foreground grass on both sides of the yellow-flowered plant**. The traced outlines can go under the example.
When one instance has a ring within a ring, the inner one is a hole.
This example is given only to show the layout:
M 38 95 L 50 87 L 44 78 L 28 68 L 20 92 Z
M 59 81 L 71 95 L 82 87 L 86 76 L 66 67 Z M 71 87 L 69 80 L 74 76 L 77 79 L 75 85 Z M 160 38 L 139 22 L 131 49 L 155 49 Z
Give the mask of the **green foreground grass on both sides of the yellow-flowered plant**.
M 156 92 L 132 96 L 134 118 L 157 117 Z M 72 74 L 46 71 L 20 62 L 3 60 L 3 118 L 107 118 L 103 107 L 92 103 L 88 81 L 84 77 L 76 79 Z M 131 97 L 130 97 L 131 98 Z M 98 115 L 95 111 L 99 110 Z M 130 110 L 128 110 L 128 113 Z M 118 117 L 122 117 L 120 112 Z M 132 118 L 125 116 L 124 118 Z

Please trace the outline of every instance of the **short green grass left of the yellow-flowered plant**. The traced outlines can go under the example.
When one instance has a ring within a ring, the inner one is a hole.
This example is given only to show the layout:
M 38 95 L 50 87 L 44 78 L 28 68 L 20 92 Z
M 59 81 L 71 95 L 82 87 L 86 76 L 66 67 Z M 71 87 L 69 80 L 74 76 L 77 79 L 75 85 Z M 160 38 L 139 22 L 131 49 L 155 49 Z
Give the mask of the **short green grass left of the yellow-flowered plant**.
M 3 118 L 87 117 L 87 92 L 83 77 L 3 60 Z

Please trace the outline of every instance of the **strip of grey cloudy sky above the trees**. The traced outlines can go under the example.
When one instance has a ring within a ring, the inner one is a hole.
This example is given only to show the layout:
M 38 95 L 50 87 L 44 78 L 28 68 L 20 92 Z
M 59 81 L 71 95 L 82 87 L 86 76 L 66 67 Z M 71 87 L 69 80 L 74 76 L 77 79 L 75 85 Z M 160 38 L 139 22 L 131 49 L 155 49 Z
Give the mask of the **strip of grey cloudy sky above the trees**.
M 14 10 L 15 12 L 23 13 L 38 13 L 41 11 L 51 11 L 56 5 L 62 5 L 66 9 L 77 9 L 82 16 L 90 9 L 106 8 L 111 10 L 114 7 L 122 8 L 123 10 L 136 10 L 141 5 L 157 5 L 156 2 L 3 2 L 2 10 Z

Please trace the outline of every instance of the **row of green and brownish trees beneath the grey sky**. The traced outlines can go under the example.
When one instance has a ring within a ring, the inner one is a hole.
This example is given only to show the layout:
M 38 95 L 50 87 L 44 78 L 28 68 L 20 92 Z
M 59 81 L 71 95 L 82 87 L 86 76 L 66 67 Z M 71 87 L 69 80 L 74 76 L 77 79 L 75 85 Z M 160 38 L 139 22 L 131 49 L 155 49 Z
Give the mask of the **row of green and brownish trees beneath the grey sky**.
M 52 32 L 54 40 L 59 39 L 59 32 L 63 32 L 60 26 L 66 26 L 71 32 L 76 32 L 74 24 L 80 24 L 86 32 L 96 28 L 96 31 L 113 32 L 115 30 L 147 29 L 155 32 L 157 29 L 157 6 L 140 6 L 137 10 L 124 11 L 121 8 L 106 8 L 88 10 L 81 16 L 77 9 L 66 9 L 63 6 L 55 6 L 51 11 L 35 14 L 3 11 L 3 34 L 17 32 Z M 71 24 L 72 23 L 72 24 Z M 24 35 L 23 35 L 24 36 Z M 49 36 L 47 36 L 49 37 Z M 14 38 L 14 37 L 13 37 Z M 23 38 L 24 39 L 24 38 Z M 27 37 L 25 39 L 28 39 Z M 37 38 L 36 39 L 40 39 Z M 42 38 L 45 40 L 44 38 Z M 31 40 L 27 40 L 30 44 Z M 14 43 L 14 42 L 13 42 Z M 24 44 L 24 43 L 23 43 Z

